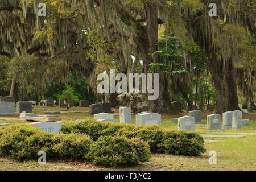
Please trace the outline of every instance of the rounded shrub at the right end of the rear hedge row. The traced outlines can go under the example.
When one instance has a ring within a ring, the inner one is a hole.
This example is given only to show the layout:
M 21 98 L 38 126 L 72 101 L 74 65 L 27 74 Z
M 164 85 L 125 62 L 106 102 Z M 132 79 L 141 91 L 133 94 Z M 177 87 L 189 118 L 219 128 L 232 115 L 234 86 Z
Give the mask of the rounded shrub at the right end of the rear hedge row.
M 206 151 L 203 137 L 188 131 L 165 132 L 160 148 L 167 154 L 185 156 L 199 156 Z

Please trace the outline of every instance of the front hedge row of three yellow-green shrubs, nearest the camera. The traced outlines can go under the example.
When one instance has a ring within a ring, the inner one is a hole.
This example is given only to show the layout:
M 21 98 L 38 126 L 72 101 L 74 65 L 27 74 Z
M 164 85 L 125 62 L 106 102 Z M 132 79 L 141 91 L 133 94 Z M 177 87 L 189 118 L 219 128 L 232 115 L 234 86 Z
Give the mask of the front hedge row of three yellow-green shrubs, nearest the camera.
M 0 129 L 0 156 L 10 159 L 38 159 L 45 151 L 47 159 L 84 159 L 108 167 L 135 165 L 151 156 L 146 142 L 125 137 L 100 137 L 94 142 L 82 133 L 54 134 L 33 125 L 10 125 Z

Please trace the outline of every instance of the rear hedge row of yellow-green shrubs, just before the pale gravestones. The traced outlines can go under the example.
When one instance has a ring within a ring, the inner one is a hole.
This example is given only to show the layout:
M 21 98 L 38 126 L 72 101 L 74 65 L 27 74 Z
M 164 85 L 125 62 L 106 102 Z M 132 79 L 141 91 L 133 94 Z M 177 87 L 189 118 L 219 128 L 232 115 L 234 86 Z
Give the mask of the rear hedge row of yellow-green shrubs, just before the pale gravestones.
M 89 135 L 94 141 L 101 136 L 139 138 L 147 142 L 151 152 L 173 155 L 199 156 L 205 152 L 204 139 L 188 131 L 164 131 L 159 126 L 134 126 L 122 123 L 86 119 L 81 122 L 63 122 L 62 133 Z

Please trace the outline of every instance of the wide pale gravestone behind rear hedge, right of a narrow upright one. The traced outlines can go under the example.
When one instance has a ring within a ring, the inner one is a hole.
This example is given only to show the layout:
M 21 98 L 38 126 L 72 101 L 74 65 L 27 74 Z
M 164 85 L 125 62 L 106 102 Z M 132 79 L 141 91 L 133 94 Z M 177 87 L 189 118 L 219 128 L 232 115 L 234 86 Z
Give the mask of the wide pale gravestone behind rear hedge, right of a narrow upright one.
M 159 125 L 161 126 L 161 114 L 142 113 L 136 115 L 136 125 Z

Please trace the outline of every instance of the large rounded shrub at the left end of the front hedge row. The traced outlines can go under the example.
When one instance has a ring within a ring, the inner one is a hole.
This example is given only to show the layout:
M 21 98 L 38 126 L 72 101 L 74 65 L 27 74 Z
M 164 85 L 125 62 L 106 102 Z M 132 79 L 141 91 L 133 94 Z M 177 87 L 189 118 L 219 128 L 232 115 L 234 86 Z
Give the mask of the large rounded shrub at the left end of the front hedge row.
M 0 155 L 10 159 L 37 159 L 39 151 L 47 157 L 55 156 L 53 151 L 54 134 L 46 133 L 32 125 L 10 125 L 0 130 Z

